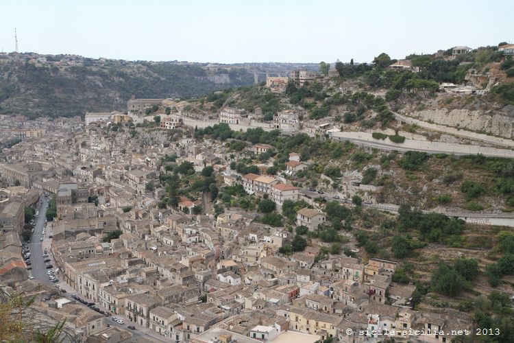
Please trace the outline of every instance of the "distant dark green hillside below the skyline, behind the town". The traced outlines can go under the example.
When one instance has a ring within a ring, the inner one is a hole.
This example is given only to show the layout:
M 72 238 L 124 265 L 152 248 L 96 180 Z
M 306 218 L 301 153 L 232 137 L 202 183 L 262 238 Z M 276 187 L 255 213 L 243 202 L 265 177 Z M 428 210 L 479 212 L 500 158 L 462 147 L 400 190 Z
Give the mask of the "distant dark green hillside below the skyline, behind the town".
M 291 64 L 201 64 L 0 54 L 0 114 L 68 116 L 124 110 L 136 97 L 196 97 L 254 84 Z M 310 66 L 312 67 L 312 66 Z

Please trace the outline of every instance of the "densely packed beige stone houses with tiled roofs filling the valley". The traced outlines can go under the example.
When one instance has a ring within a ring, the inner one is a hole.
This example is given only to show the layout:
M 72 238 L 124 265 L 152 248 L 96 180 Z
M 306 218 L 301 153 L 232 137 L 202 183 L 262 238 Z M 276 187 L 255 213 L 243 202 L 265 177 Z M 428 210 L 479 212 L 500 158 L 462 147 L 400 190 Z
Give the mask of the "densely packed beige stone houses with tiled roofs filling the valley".
M 299 84 L 315 77 L 302 71 L 291 76 Z M 279 81 L 270 86 L 283 84 Z M 131 99 L 127 106 L 134 115 L 160 102 Z M 302 130 L 299 115 L 281 111 L 273 128 L 284 134 Z M 255 212 L 230 208 L 217 217 L 212 211 L 193 214 L 195 207 L 208 207 L 201 197 L 182 197 L 173 208 L 159 206 L 167 193 L 160 177 L 168 173 L 169 156 L 173 163 L 191 163 L 195 171 L 211 165 L 224 171 L 225 185 L 240 184 L 247 194 L 280 207 L 302 197 L 289 180 L 308 168 L 299 154 L 289 155 L 282 176 L 240 175 L 230 170 L 230 162 L 273 147 L 256 143 L 233 152 L 226 142 L 193 139 L 188 130 L 170 140 L 138 128 L 145 134 L 142 141 L 128 130 L 105 130 L 130 120 L 123 114 L 88 113 L 86 119 L 86 125 L 63 124 L 44 138 L 29 137 L 0 156 L 3 182 L 21 185 L 0 191 L 0 283 L 38 296 L 34 306 L 40 313 L 66 318 L 69 328 L 84 333 L 85 342 L 121 342 L 130 331 L 109 327 L 98 311 L 27 279 L 19 233 L 25 208 L 37 204 L 40 193 L 56 199 L 49 255 L 62 287 L 148 335 L 171 342 L 354 343 L 380 342 L 384 336 L 377 330 L 387 330 L 394 331 L 389 338 L 395 340 L 450 342 L 454 335 L 411 330 L 471 328 L 471 318 L 461 312 L 414 310 L 415 286 L 393 282 L 394 261 L 319 259 L 321 248 L 315 245 L 284 255 L 279 250 L 293 239 L 291 231 L 257 223 Z M 249 120 L 244 110 L 221 110 L 221 122 Z M 184 122 L 170 115 L 160 118 L 160 126 L 177 129 Z M 345 176 L 341 183 L 347 192 L 376 191 L 358 177 Z M 308 230 L 326 220 L 319 209 L 297 211 L 297 226 Z M 103 239 L 117 230 L 119 237 Z

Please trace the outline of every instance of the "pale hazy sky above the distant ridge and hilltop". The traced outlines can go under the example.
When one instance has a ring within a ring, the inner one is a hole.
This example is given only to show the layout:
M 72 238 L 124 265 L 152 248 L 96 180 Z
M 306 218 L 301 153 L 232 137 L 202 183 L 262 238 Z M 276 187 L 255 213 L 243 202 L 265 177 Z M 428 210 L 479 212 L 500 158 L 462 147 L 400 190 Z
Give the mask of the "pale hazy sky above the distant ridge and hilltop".
M 0 48 L 124 60 L 369 62 L 513 42 L 513 0 L 0 0 Z

